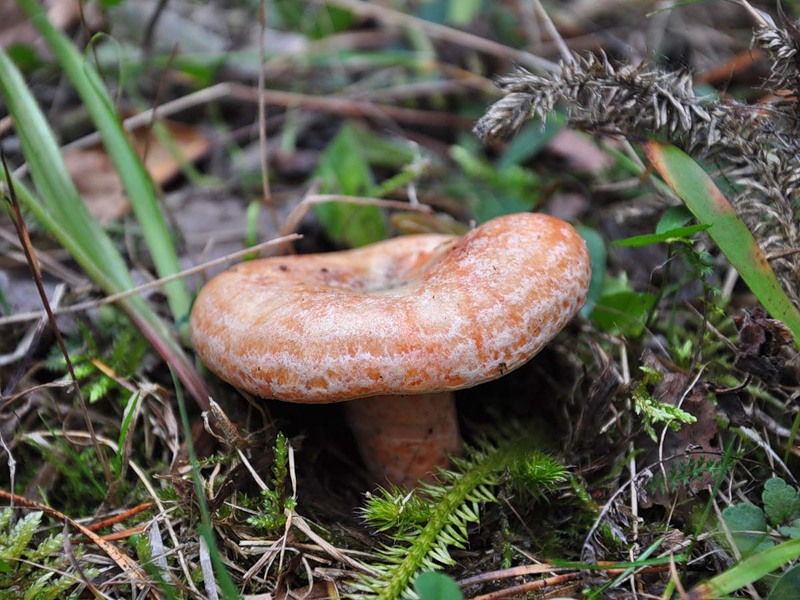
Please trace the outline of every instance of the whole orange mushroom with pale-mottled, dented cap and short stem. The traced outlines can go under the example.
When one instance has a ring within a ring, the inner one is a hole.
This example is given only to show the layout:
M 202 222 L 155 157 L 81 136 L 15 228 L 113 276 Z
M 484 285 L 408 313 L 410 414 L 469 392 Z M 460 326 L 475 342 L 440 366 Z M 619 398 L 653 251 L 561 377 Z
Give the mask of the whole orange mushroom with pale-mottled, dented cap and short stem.
M 519 213 L 462 237 L 241 263 L 201 290 L 192 342 L 252 394 L 349 401 L 371 476 L 413 486 L 458 453 L 452 391 L 527 362 L 581 308 L 589 278 L 570 225 Z

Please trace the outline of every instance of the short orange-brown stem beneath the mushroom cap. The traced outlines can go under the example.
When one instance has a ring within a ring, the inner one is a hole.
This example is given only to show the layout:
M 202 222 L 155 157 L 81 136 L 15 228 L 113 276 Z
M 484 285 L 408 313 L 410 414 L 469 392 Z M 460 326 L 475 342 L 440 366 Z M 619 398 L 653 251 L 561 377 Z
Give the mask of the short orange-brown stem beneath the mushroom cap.
M 461 449 L 452 392 L 372 396 L 345 411 L 367 471 L 381 484 L 430 481 Z

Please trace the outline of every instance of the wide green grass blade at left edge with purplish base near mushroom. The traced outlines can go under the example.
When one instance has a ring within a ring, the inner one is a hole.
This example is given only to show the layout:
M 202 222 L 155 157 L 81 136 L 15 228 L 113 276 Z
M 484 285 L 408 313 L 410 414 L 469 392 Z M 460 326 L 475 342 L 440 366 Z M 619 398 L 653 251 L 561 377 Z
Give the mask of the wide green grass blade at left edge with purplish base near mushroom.
M 20 204 L 66 249 L 86 274 L 107 294 L 134 287 L 128 267 L 111 239 L 81 200 L 67 173 L 58 143 L 22 75 L 0 49 L 0 96 L 3 97 L 41 199 L 22 182 L 13 185 Z M 0 179 L 5 180 L 0 169 Z M 153 348 L 171 364 L 201 407 L 208 406 L 208 388 L 174 338 L 172 329 L 139 296 L 119 301 Z

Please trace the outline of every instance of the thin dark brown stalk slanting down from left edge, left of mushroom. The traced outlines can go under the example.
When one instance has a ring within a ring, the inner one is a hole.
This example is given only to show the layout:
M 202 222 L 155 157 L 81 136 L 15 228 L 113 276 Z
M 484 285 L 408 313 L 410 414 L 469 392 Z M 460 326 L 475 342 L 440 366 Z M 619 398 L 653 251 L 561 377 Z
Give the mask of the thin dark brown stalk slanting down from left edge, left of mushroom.
M 8 182 L 8 194 L 3 193 L 3 197 L 11 209 L 10 212 L 12 221 L 14 222 L 14 228 L 17 230 L 20 244 L 22 244 L 22 250 L 25 252 L 25 257 L 28 260 L 28 266 L 30 267 L 31 274 L 33 275 L 33 280 L 36 283 L 36 290 L 39 292 L 39 298 L 42 301 L 42 306 L 44 306 L 44 310 L 47 313 L 47 319 L 50 322 L 53 335 L 55 335 L 58 346 L 61 348 L 61 352 L 64 355 L 64 360 L 67 364 L 67 370 L 69 371 L 70 379 L 72 379 L 72 382 L 75 384 L 75 394 L 78 396 L 78 401 L 81 405 L 81 412 L 83 413 L 83 418 L 86 422 L 86 429 L 89 431 L 89 434 L 92 437 L 92 444 L 94 445 L 95 452 L 97 453 L 97 459 L 100 461 L 100 465 L 103 468 L 103 475 L 106 478 L 106 483 L 110 486 L 112 482 L 111 469 L 108 466 L 105 452 L 97 442 L 94 424 L 92 423 L 92 419 L 89 417 L 89 407 L 86 405 L 86 399 L 83 397 L 81 386 L 78 384 L 78 377 L 75 374 L 72 360 L 69 357 L 67 345 L 64 343 L 64 338 L 61 337 L 61 330 L 58 328 L 56 317 L 53 314 L 52 308 L 50 307 L 50 301 L 47 298 L 47 292 L 45 291 L 44 283 L 42 282 L 42 271 L 39 268 L 39 262 L 36 260 L 36 254 L 33 251 L 33 242 L 31 242 L 30 235 L 28 234 L 28 228 L 25 225 L 25 219 L 22 217 L 22 210 L 20 209 L 19 202 L 17 201 L 17 193 L 12 184 L 13 180 L 11 178 L 11 172 L 8 169 L 6 156 L 2 152 L 0 152 L 0 159 L 2 159 L 3 170 L 5 171 L 6 181 Z

